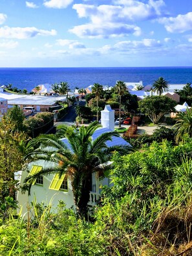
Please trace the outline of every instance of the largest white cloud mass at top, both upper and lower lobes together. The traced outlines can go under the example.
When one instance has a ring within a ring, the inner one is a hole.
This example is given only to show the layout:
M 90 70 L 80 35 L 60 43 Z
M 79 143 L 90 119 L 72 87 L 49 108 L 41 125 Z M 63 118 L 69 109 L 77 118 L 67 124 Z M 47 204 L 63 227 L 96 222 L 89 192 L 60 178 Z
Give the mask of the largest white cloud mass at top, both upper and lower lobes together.
M 115 37 L 134 34 L 140 36 L 141 30 L 134 25 L 135 21 L 143 21 L 161 17 L 164 13 L 164 1 L 149 0 L 147 3 L 134 0 L 116 0 L 114 5 L 75 4 L 80 18 L 87 18 L 89 23 L 75 26 L 69 31 L 79 37 Z

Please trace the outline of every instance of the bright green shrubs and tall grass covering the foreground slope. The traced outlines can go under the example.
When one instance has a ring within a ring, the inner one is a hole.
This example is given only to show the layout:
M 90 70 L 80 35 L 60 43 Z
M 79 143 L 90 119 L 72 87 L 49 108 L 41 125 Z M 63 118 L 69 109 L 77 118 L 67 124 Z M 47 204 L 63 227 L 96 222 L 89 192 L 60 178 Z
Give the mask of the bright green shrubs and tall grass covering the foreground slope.
M 27 221 L 11 215 L 0 227 L 0 254 L 191 255 L 191 151 L 189 139 L 114 154 L 114 186 L 103 187 L 92 223 L 78 219 L 63 202 L 56 213 L 51 202 L 33 202 Z

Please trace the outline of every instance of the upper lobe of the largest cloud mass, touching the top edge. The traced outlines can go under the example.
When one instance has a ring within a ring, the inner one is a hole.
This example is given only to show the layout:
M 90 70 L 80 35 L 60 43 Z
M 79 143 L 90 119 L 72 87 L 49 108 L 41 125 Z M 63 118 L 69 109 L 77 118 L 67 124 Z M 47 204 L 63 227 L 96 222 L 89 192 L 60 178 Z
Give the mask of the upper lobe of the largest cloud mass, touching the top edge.
M 112 22 L 141 21 L 155 19 L 164 14 L 161 10 L 164 1 L 149 0 L 147 4 L 140 1 L 125 0 L 123 5 L 73 5 L 79 17 L 89 17 L 92 23 L 102 23 L 103 20 Z

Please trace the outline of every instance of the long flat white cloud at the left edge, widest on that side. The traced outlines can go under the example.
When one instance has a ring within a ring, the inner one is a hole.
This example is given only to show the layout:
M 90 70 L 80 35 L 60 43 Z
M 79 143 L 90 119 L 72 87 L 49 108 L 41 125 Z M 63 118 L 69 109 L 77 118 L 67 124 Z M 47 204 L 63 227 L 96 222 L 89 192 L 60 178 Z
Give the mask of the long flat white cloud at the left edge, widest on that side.
M 43 30 L 36 27 L 1 27 L 0 28 L 0 37 L 2 38 L 17 38 L 17 39 L 26 39 L 35 36 L 55 36 L 56 30 Z

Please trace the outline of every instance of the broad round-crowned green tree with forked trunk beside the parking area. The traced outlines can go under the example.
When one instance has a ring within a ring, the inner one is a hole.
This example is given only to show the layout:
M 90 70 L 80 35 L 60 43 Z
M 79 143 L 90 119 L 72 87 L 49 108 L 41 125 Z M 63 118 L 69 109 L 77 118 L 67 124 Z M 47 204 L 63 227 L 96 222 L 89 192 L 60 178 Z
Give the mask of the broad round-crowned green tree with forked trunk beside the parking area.
M 139 110 L 157 124 L 167 112 L 175 112 L 176 101 L 166 96 L 147 96 L 138 101 Z

